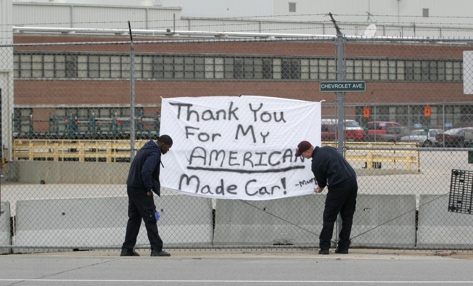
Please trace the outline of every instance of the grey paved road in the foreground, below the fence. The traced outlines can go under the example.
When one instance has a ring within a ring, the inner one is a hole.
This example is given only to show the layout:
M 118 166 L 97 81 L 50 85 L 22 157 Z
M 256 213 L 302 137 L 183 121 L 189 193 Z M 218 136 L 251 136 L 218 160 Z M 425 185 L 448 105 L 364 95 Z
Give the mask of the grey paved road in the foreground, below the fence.
M 7 285 L 473 285 L 471 252 L 170 250 L 170 258 L 118 251 L 0 256 Z M 464 258 L 464 259 L 455 259 Z

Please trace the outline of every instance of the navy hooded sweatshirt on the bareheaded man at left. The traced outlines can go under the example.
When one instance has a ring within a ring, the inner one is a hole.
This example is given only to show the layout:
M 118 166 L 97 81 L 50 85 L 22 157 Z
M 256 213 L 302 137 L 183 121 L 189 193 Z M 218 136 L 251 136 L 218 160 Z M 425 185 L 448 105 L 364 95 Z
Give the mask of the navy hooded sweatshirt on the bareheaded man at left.
M 155 192 L 160 196 L 159 164 L 161 163 L 161 149 L 153 140 L 149 140 L 136 154 L 131 162 L 126 186 L 136 190 Z

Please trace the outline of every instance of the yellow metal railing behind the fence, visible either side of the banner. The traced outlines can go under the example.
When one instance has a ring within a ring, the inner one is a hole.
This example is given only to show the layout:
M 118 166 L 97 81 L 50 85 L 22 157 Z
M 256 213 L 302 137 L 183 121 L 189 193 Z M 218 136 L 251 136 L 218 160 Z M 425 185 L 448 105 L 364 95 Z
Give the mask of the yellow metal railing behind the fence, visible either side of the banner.
M 147 140 L 136 140 L 135 148 L 141 148 Z M 416 143 L 363 143 L 347 142 L 347 147 L 418 147 Z M 335 142 L 322 142 L 322 145 L 335 146 Z M 128 140 L 42 140 L 15 139 L 13 141 L 14 160 L 41 161 L 96 161 L 116 162 L 130 158 Z M 347 161 L 366 162 L 366 168 L 373 168 L 373 163 L 404 164 L 408 170 L 412 164 L 420 171 L 420 152 L 398 150 L 348 150 Z

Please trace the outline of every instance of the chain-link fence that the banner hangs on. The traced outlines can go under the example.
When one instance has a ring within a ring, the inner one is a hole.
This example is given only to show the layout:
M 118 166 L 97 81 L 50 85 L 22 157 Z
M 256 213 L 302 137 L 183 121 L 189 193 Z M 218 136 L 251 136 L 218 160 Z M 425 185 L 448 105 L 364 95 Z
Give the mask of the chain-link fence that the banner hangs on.
M 464 149 L 473 130 L 473 84 L 465 74 L 471 41 L 341 37 L 0 49 L 7 67 L 0 73 L 6 252 L 120 248 L 131 142 L 138 149 L 159 134 L 161 97 L 238 95 L 325 100 L 323 144 L 344 151 L 358 175 L 353 247 L 473 249 L 473 217 L 448 212 L 451 170 L 472 170 L 473 149 Z M 319 91 L 320 81 L 339 74 L 365 81 L 366 91 Z M 464 188 L 471 197 L 472 186 Z M 323 194 L 267 201 L 161 194 L 155 204 L 165 247 L 318 244 Z M 138 245 L 149 247 L 144 227 Z

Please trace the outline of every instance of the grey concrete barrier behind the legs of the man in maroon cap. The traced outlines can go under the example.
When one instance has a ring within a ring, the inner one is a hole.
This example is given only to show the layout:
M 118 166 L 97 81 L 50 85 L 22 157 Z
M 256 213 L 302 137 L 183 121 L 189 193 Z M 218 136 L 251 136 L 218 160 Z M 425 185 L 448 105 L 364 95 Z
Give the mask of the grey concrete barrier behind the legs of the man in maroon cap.
M 325 198 L 217 200 L 214 245 L 319 244 Z M 409 209 L 415 209 L 414 195 L 358 195 L 351 236 L 368 232 L 352 244 L 415 245 L 415 212 L 386 223 Z

